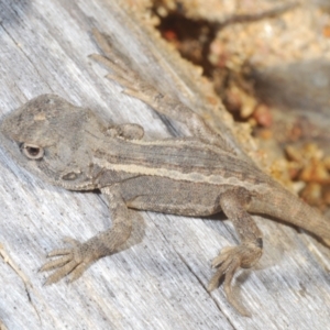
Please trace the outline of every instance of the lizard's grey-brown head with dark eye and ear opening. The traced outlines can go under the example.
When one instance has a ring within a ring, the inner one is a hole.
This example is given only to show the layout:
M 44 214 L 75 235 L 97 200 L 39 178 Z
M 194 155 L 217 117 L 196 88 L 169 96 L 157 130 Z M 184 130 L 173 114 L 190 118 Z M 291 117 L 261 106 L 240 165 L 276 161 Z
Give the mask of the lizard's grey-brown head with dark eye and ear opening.
M 53 185 L 92 189 L 88 132 L 102 132 L 89 110 L 55 95 L 42 95 L 0 123 L 6 148 L 22 167 Z M 98 136 L 95 136 L 97 139 Z

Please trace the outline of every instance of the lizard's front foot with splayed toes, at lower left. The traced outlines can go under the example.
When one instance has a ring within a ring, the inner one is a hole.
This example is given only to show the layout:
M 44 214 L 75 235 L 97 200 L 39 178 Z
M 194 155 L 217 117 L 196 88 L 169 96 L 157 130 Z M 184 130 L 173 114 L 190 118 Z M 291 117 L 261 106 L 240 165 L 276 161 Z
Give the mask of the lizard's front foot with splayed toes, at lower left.
M 68 274 L 70 274 L 69 282 L 74 282 L 82 275 L 91 263 L 99 258 L 88 243 L 80 243 L 70 238 L 65 238 L 64 242 L 69 243 L 73 248 L 53 250 L 47 257 L 59 257 L 45 263 L 40 268 L 40 272 L 57 270 L 46 279 L 45 285 L 56 283 Z

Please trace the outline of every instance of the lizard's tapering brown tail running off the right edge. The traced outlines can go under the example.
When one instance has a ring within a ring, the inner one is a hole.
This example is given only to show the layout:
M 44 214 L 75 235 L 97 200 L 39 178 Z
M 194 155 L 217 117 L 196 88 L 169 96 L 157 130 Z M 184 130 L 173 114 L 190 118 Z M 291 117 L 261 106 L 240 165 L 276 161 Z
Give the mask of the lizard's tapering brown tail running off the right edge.
M 330 219 L 304 200 L 278 187 L 272 194 L 253 198 L 249 211 L 265 213 L 285 222 L 298 226 L 322 239 L 330 246 Z

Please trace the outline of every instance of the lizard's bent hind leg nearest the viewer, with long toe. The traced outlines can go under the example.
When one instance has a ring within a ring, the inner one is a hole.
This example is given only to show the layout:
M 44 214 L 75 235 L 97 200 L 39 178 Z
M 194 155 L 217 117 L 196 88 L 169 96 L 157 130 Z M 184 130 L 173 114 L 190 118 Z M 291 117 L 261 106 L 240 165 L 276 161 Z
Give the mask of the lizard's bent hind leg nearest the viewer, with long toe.
M 224 276 L 224 292 L 228 301 L 244 316 L 250 316 L 250 314 L 235 299 L 231 282 L 240 267 L 250 268 L 260 260 L 263 249 L 262 233 L 253 218 L 246 212 L 250 200 L 250 193 L 244 188 L 233 188 L 220 196 L 221 208 L 233 222 L 241 244 L 222 249 L 221 253 L 212 261 L 212 266 L 218 270 L 208 287 L 208 290 L 211 292 L 219 286 Z

